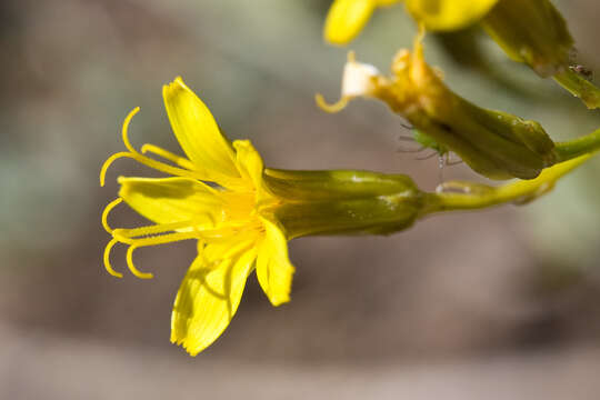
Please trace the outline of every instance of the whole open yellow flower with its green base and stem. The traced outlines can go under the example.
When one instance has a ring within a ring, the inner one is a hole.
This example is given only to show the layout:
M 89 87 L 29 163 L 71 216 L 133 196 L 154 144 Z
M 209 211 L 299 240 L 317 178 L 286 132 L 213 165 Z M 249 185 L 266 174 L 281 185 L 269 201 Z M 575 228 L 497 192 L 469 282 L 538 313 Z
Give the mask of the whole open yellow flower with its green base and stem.
M 447 182 L 444 188 L 462 193 L 430 193 L 419 190 L 404 174 L 263 168 L 248 140 L 229 142 L 181 78 L 163 88 L 163 97 L 187 158 L 152 144 L 136 150 L 129 142 L 128 127 L 139 109 L 129 113 L 122 128 L 128 151 L 104 162 L 100 184 L 104 184 L 109 166 L 120 158 L 172 177 L 118 179 L 119 197 L 102 213 L 102 224 L 112 236 L 104 250 L 104 267 L 112 276 L 122 277 L 109 258 L 114 244 L 123 243 L 128 246 L 129 270 L 141 279 L 152 278 L 133 264 L 136 249 L 197 240 L 198 256 L 181 282 L 171 316 L 171 341 L 192 356 L 228 327 L 252 271 L 273 306 L 289 301 L 294 268 L 288 258 L 288 240 L 310 234 L 389 234 L 430 213 L 530 201 L 548 192 L 600 147 L 598 130 L 563 148 L 564 158 L 578 158 L 549 168 L 531 181 L 497 188 Z M 123 201 L 153 223 L 111 228 L 109 213 Z

